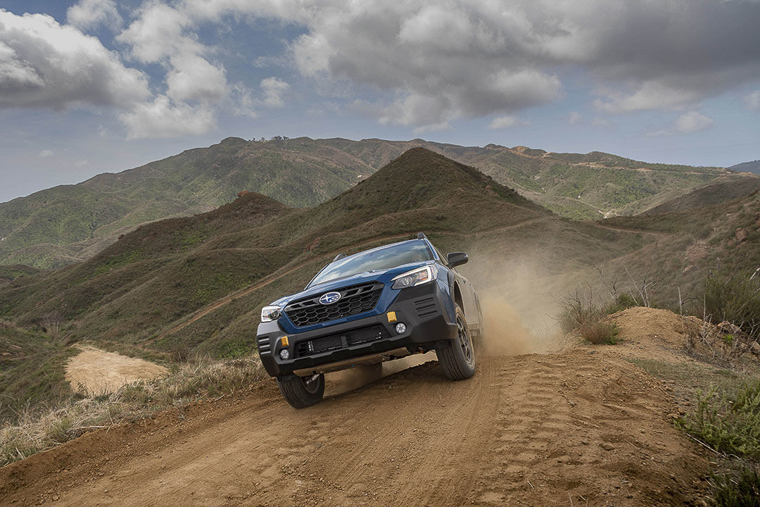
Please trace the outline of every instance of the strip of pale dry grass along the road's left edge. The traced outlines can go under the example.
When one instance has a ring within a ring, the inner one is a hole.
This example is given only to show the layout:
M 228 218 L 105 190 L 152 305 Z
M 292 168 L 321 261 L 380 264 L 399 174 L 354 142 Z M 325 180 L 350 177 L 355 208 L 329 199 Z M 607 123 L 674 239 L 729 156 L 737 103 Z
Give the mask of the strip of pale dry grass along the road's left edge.
M 176 367 L 163 379 L 125 385 L 110 395 L 85 394 L 56 405 L 25 407 L 0 427 L 0 466 L 93 429 L 244 391 L 264 376 L 258 360 L 195 360 Z

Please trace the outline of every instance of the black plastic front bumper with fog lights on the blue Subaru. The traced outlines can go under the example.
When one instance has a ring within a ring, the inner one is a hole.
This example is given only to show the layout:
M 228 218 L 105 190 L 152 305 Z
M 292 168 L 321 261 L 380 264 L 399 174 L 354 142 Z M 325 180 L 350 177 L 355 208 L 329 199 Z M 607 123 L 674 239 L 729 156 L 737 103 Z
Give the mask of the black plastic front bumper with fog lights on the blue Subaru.
M 286 333 L 277 321 L 262 322 L 257 332 L 261 364 L 271 376 L 309 375 L 431 350 L 457 337 L 457 326 L 446 311 L 447 299 L 438 284 L 423 284 L 401 290 L 379 315 L 313 331 Z M 394 322 L 388 322 L 388 312 L 395 312 Z M 396 332 L 398 322 L 406 325 L 403 333 Z M 287 347 L 283 347 L 283 336 L 287 336 Z M 288 350 L 287 360 L 280 358 L 283 348 Z

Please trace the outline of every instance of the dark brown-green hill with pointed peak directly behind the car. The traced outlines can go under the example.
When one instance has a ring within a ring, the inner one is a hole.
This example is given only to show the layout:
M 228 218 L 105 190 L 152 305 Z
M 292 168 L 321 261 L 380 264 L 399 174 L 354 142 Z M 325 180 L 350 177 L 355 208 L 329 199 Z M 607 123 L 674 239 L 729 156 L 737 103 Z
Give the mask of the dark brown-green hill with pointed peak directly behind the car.
M 261 306 L 299 290 L 337 252 L 425 230 L 444 250 L 530 255 L 561 272 L 643 241 L 556 217 L 477 170 L 420 148 L 315 208 L 262 200 L 246 195 L 211 214 L 152 223 L 81 264 L 6 284 L 0 312 L 27 326 L 55 313 L 72 340 L 147 356 L 238 356 L 252 350 Z M 254 204 L 264 209 L 249 214 L 255 220 L 237 218 Z M 168 332 L 235 293 L 231 303 Z

